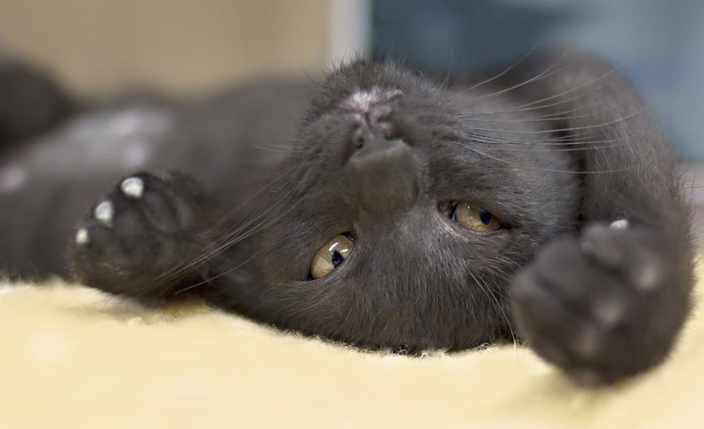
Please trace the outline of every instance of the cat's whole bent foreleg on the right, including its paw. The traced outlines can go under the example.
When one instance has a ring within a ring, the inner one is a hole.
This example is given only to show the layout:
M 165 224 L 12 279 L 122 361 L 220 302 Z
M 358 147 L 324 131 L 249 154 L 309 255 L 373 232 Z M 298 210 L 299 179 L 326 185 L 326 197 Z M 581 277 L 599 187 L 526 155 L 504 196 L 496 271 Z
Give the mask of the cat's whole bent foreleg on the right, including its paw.
M 541 357 L 584 383 L 608 383 L 672 350 L 694 284 L 691 207 L 667 141 L 626 79 L 588 56 L 558 64 L 526 91 L 549 98 L 548 113 L 565 118 L 556 132 L 579 148 L 582 222 L 520 271 L 513 314 Z

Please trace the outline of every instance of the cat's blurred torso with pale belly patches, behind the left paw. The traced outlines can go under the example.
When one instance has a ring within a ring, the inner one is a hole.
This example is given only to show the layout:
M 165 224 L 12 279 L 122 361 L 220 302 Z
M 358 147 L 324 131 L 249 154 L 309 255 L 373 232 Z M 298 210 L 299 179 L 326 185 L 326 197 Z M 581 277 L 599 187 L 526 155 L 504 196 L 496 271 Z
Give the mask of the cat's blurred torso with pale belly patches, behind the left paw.
M 73 101 L 44 82 L 50 77 L 19 64 L 0 62 L 0 69 L 13 69 L 0 72 L 0 86 L 11 87 L 0 91 L 10 92 L 4 100 L 23 107 L 15 115 L 34 129 L 0 126 L 0 198 L 9 207 L 0 214 L 0 269 L 30 280 L 68 276 L 64 250 L 76 220 L 120 177 L 138 170 L 193 174 L 222 207 L 240 205 L 282 158 L 309 86 L 270 79 L 198 98 L 137 93 Z M 25 100 L 30 89 L 11 93 L 19 79 L 10 74 L 23 75 L 31 89 L 51 89 L 45 98 L 70 108 L 45 124 L 46 115 Z

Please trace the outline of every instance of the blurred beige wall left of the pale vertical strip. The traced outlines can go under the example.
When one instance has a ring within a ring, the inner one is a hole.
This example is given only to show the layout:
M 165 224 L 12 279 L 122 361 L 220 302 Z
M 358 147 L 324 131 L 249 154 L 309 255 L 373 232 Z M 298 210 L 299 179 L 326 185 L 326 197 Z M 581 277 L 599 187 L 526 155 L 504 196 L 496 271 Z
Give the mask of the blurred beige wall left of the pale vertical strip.
M 82 91 L 196 91 L 325 63 L 327 0 L 0 0 L 0 45 Z

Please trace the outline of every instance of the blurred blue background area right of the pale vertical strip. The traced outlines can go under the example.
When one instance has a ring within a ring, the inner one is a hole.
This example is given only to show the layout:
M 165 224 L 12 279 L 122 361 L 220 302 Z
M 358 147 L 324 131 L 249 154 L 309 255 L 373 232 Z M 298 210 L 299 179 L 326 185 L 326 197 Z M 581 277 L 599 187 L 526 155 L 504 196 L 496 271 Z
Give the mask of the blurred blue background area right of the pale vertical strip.
M 704 0 L 374 0 L 375 51 L 420 68 L 503 65 L 569 44 L 615 61 L 684 158 L 704 160 Z

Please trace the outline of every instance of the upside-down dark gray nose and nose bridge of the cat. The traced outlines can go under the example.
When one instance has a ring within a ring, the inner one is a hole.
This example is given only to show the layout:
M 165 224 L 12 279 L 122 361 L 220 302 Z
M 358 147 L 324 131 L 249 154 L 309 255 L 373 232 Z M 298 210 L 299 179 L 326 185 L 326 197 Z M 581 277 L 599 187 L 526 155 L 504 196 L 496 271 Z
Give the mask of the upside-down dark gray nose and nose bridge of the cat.
M 379 219 L 408 209 L 419 194 L 422 170 L 413 148 L 387 139 L 382 129 L 367 133 L 361 143 L 348 160 L 360 208 Z

